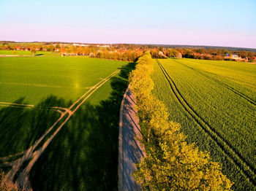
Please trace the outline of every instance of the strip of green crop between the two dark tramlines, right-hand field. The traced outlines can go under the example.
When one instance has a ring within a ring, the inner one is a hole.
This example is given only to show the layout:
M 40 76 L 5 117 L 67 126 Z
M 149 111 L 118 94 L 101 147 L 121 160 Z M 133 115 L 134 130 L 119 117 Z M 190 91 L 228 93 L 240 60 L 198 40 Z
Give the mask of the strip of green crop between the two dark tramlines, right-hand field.
M 255 166 L 255 106 L 217 82 L 173 60 L 162 60 L 161 63 L 189 106 L 231 144 L 247 163 Z

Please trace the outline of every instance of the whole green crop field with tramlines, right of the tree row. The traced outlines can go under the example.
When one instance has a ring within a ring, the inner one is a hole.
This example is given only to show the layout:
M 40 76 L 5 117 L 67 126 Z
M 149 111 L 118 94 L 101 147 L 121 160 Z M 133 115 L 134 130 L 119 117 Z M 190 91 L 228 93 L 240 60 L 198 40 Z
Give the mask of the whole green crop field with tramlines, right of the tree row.
M 222 165 L 234 190 L 255 190 L 256 65 L 163 59 L 152 78 L 187 141 Z

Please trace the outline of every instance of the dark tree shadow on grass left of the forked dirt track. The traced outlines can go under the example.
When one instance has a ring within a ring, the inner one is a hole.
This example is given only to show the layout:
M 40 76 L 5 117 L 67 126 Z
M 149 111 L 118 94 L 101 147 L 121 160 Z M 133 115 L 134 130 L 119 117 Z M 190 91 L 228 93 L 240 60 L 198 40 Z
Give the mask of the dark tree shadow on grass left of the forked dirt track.
M 0 157 L 29 149 L 60 115 L 49 109 L 50 106 L 64 104 L 64 100 L 51 95 L 28 109 L 22 105 L 26 104 L 24 99 L 18 99 L 12 106 L 0 107 Z

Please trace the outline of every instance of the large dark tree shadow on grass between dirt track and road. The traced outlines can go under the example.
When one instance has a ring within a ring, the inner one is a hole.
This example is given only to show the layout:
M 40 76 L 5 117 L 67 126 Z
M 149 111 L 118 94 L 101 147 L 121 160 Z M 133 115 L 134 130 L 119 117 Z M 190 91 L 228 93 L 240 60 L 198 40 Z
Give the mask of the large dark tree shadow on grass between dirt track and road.
M 135 63 L 129 63 L 118 77 L 110 79 L 112 92 L 107 100 L 97 105 L 83 104 L 67 121 L 31 169 L 33 190 L 118 190 L 119 112 L 129 72 L 134 68 Z M 67 102 L 50 96 L 48 105 L 55 101 Z M 45 117 L 39 119 L 34 117 L 32 124 Z M 34 125 L 27 133 L 39 134 L 41 126 Z

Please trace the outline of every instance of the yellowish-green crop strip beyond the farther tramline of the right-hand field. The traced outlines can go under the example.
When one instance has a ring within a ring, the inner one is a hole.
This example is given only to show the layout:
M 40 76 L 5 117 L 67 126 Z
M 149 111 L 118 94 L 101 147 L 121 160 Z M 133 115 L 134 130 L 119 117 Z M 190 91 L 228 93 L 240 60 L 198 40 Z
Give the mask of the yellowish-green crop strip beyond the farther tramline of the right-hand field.
M 254 64 L 230 61 L 198 61 L 194 59 L 172 59 L 171 63 L 183 63 L 233 87 L 256 101 L 256 67 Z M 184 68 L 184 67 L 181 67 Z

